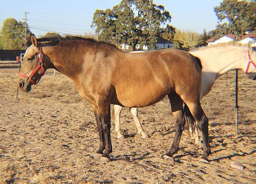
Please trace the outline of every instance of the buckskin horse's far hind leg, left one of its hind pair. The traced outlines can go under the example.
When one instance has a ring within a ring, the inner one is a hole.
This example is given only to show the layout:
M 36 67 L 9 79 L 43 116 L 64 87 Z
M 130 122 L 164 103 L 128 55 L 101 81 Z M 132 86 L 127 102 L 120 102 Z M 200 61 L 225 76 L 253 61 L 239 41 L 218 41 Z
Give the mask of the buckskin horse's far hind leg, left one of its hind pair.
M 166 153 L 164 156 L 165 158 L 171 157 L 173 154 L 177 153 L 178 147 L 180 144 L 180 137 L 183 131 L 183 127 L 185 125 L 185 121 L 182 117 L 182 108 L 183 108 L 183 101 L 177 94 L 169 94 L 168 98 L 170 100 L 172 106 L 172 115 L 175 118 L 175 137 L 172 142 L 172 147 L 169 152 Z M 168 157 L 167 157 L 168 156 Z

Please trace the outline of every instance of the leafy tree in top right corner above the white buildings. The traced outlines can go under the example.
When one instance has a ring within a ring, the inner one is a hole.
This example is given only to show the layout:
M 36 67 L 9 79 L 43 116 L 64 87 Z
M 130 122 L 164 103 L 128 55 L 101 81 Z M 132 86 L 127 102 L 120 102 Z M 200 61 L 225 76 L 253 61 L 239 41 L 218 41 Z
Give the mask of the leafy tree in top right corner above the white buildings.
M 247 31 L 256 29 L 256 1 L 224 0 L 214 7 L 218 26 L 212 34 L 232 33 L 237 40 Z

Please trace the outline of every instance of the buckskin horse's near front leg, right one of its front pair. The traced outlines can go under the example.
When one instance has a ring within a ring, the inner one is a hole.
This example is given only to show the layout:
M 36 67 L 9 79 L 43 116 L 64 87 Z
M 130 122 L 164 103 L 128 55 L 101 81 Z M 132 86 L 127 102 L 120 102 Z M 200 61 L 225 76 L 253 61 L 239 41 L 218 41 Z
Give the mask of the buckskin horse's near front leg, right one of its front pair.
M 97 101 L 97 106 L 99 109 L 99 114 L 102 121 L 102 130 L 105 138 L 105 150 L 100 160 L 102 162 L 107 162 L 110 161 L 109 154 L 112 152 L 112 143 L 110 135 L 110 102 L 106 100 L 99 100 Z

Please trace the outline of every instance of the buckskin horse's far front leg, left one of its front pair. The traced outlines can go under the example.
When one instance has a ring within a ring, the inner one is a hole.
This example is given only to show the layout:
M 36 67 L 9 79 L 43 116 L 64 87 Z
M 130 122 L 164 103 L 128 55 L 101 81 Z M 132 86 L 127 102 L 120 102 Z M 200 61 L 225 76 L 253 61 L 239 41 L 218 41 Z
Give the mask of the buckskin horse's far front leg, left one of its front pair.
M 99 149 L 96 152 L 96 154 L 93 155 L 93 157 L 100 158 L 103 155 L 103 150 L 105 150 L 105 138 L 104 138 L 104 133 L 103 133 L 103 129 L 102 129 L 102 121 L 101 121 L 101 117 L 99 114 L 99 109 L 97 106 L 95 106 L 93 104 L 91 104 L 91 107 L 93 109 L 93 113 L 96 118 L 97 128 L 98 128 L 98 132 L 99 132 Z

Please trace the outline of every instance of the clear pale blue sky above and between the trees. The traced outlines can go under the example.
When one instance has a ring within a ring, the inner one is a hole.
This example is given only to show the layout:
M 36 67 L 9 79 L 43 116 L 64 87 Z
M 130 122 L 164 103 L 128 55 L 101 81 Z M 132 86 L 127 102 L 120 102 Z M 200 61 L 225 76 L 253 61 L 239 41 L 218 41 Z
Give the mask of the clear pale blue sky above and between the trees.
M 0 26 L 3 20 L 13 17 L 23 20 L 27 14 L 30 30 L 36 35 L 47 32 L 84 35 L 94 33 L 90 28 L 96 9 L 107 9 L 119 4 L 121 0 L 2 0 Z M 154 0 L 172 15 L 171 25 L 178 29 L 202 33 L 215 29 L 217 17 L 213 11 L 222 0 Z M 0 27 L 1 28 L 1 27 Z M 45 29 L 39 30 L 39 29 Z

